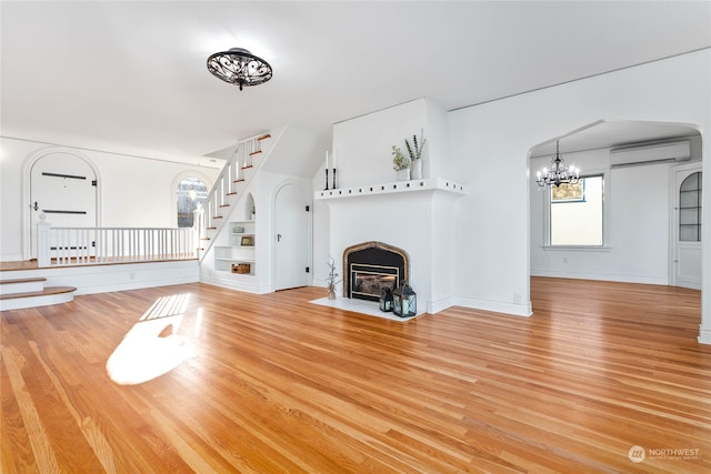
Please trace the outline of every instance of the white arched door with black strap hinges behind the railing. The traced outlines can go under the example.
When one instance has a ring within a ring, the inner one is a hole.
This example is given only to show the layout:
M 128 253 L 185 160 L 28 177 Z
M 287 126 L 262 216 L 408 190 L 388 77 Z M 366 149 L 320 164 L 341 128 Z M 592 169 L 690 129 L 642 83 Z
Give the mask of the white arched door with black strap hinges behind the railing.
M 30 172 L 30 255 L 37 258 L 37 223 L 44 213 L 53 228 L 97 226 L 97 177 L 71 153 L 48 153 Z

